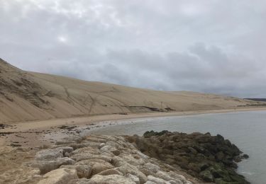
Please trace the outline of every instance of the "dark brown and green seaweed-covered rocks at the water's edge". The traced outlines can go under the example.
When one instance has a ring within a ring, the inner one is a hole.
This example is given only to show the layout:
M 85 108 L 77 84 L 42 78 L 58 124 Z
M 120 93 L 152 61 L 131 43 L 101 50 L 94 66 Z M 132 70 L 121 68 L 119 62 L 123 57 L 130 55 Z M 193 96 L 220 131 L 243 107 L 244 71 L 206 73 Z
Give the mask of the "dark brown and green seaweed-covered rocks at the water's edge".
M 143 137 L 127 137 L 143 154 L 181 168 L 206 182 L 245 184 L 235 172 L 236 162 L 247 159 L 237 146 L 221 135 L 179 132 L 145 132 Z

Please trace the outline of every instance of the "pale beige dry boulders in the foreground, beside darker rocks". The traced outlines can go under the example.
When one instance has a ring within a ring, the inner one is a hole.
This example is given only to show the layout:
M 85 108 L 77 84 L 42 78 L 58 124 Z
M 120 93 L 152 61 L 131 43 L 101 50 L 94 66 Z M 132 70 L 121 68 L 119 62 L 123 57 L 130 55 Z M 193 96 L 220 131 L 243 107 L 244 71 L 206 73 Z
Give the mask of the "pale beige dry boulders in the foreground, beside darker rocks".
M 31 183 L 38 184 L 199 183 L 119 136 L 68 138 L 38 151 L 24 166 L 35 168 Z

